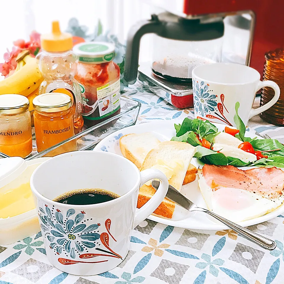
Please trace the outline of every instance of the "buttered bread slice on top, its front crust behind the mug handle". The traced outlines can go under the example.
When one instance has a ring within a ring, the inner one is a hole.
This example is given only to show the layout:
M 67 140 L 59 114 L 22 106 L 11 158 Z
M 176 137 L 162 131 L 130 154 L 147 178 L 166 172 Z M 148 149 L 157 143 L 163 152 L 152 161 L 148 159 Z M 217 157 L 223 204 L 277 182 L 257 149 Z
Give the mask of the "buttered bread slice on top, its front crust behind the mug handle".
M 142 166 L 141 171 L 157 168 L 157 165 L 160 164 L 160 161 L 164 161 L 165 165 L 167 162 L 169 164 L 174 161 L 177 161 L 178 165 L 176 168 L 171 168 L 169 184 L 180 191 L 185 174 L 188 170 L 189 163 L 195 153 L 195 147 L 188 143 L 177 142 L 177 141 L 167 141 L 159 143 L 158 149 L 152 149 L 146 156 Z M 164 172 L 166 175 L 168 172 Z M 194 174 L 195 175 L 195 174 Z M 139 190 L 137 207 L 140 208 L 143 206 L 155 193 L 155 189 L 151 185 L 142 185 Z M 158 206 L 154 211 L 155 214 L 160 215 L 166 218 L 172 218 L 172 214 L 175 210 L 175 203 L 165 198 L 163 202 Z

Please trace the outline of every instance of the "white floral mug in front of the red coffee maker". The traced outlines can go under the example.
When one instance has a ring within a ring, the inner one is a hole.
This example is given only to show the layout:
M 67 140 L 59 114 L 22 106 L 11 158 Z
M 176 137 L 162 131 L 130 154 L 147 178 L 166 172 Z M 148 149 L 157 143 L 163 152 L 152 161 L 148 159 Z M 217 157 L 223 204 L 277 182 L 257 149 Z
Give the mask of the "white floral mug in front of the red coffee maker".
M 234 63 L 204 64 L 192 70 L 194 117 L 235 126 L 235 105 L 238 115 L 247 125 L 256 114 L 273 106 L 280 89 L 273 81 L 260 81 L 255 69 Z M 255 94 L 262 87 L 271 87 L 274 97 L 264 106 L 253 109 Z

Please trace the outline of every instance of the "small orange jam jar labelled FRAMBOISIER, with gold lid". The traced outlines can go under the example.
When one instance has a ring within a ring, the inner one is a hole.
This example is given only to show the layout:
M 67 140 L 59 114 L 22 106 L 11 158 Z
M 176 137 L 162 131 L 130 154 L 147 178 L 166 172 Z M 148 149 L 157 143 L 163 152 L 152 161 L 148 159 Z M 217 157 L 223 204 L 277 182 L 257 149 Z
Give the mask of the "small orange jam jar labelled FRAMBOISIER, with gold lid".
M 38 152 L 75 135 L 72 100 L 64 93 L 45 93 L 33 99 L 35 139 Z M 76 141 L 70 141 L 52 151 L 52 156 L 76 151 Z M 50 156 L 50 155 L 49 155 Z

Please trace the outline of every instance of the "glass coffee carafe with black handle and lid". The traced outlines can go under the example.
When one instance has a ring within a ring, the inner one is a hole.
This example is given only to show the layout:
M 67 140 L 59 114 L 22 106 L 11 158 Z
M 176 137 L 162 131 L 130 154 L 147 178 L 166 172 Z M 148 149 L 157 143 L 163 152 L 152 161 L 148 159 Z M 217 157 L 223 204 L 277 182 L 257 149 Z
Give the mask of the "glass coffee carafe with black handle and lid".
M 201 64 L 221 62 L 224 23 L 222 19 L 206 22 L 185 19 L 170 13 L 152 15 L 138 23 L 128 34 L 124 79 L 136 80 L 139 42 L 146 33 L 154 33 L 152 71 L 164 79 L 191 81 L 191 72 Z

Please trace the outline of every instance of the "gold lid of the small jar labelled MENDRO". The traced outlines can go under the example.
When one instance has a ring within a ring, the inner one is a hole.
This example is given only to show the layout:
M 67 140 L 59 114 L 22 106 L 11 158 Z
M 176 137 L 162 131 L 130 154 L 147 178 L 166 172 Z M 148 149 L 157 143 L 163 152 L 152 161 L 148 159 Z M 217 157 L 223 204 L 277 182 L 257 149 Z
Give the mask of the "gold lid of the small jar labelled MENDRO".
M 29 104 L 29 99 L 22 95 L 0 95 L 0 114 L 18 114 L 27 110 Z

